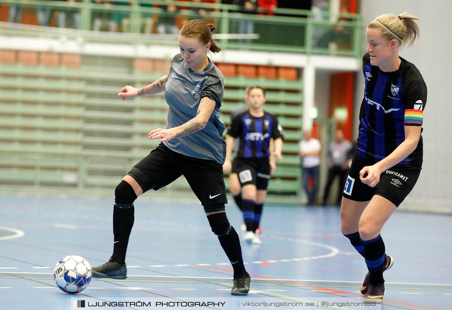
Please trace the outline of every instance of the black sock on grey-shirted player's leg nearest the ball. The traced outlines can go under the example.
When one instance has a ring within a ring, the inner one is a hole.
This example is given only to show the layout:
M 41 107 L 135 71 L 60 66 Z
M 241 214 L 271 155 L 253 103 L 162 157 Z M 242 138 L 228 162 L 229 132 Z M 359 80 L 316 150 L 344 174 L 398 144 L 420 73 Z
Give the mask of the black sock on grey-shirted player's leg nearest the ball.
M 127 244 L 130 232 L 135 220 L 135 208 L 120 208 L 116 204 L 113 207 L 113 255 L 112 259 L 118 263 L 124 263 L 126 259 Z

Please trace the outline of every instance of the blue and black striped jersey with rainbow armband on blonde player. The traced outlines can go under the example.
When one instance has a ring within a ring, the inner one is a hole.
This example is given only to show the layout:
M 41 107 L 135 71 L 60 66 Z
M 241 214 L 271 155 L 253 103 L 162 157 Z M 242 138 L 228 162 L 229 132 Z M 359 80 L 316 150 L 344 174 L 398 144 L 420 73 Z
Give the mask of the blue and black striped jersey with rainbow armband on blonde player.
M 400 57 L 400 67 L 383 72 L 363 56 L 366 87 L 359 113 L 357 155 L 378 162 L 405 140 L 405 126 L 422 126 L 427 86 L 419 70 Z M 418 146 L 397 165 L 422 166 L 422 136 Z

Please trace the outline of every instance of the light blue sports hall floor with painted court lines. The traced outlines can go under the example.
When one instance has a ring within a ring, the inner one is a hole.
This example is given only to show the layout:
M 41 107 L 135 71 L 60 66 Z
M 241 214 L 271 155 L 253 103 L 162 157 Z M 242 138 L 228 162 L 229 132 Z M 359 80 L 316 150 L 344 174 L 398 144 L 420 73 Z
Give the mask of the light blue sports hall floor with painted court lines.
M 250 294 L 231 296 L 231 264 L 199 203 L 138 199 L 127 279 L 93 279 L 85 291 L 69 295 L 56 288 L 53 267 L 68 254 L 83 256 L 92 266 L 108 260 L 113 249 L 113 199 L 0 197 L 1 310 L 73 309 L 71 298 L 88 297 L 228 301 L 227 307 L 202 309 L 452 309 L 452 217 L 447 215 L 395 212 L 381 232 L 386 253 L 395 263 L 384 274 L 382 305 L 369 307 L 353 304 L 362 301 L 359 290 L 367 269 L 340 232 L 337 207 L 265 205 L 262 244 L 241 243 L 251 274 Z M 239 231 L 241 214 L 233 202 L 226 212 Z M 316 307 L 247 308 L 247 300 L 312 301 Z M 322 306 L 323 300 L 351 305 Z M 165 304 L 147 309 L 179 308 Z

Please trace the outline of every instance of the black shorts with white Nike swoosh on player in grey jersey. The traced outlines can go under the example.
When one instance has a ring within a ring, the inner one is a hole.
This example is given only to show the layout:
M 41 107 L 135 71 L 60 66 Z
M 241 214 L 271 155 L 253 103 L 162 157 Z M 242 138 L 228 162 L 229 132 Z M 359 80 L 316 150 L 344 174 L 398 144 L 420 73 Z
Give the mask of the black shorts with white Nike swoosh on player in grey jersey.
M 137 181 L 143 193 L 157 190 L 183 175 L 206 212 L 211 205 L 227 203 L 223 166 L 215 160 L 203 160 L 179 154 L 160 143 L 127 173 Z

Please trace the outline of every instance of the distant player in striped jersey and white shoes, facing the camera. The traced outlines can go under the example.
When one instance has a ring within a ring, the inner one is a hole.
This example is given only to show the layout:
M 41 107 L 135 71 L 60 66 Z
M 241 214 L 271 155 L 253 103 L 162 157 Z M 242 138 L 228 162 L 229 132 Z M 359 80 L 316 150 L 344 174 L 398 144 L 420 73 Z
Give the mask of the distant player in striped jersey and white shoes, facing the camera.
M 238 174 L 243 192 L 242 211 L 246 225 L 245 240 L 261 243 L 255 234 L 259 227 L 264 199 L 267 195 L 270 179 L 270 158 L 281 160 L 282 128 L 278 119 L 264 111 L 265 91 L 251 87 L 249 93 L 250 110 L 237 115 L 231 122 L 226 136 L 226 160 L 223 168 L 232 165 L 232 172 Z M 234 163 L 231 153 L 234 139 L 239 137 L 240 144 Z M 273 139 L 275 151 L 270 154 L 270 140 Z

